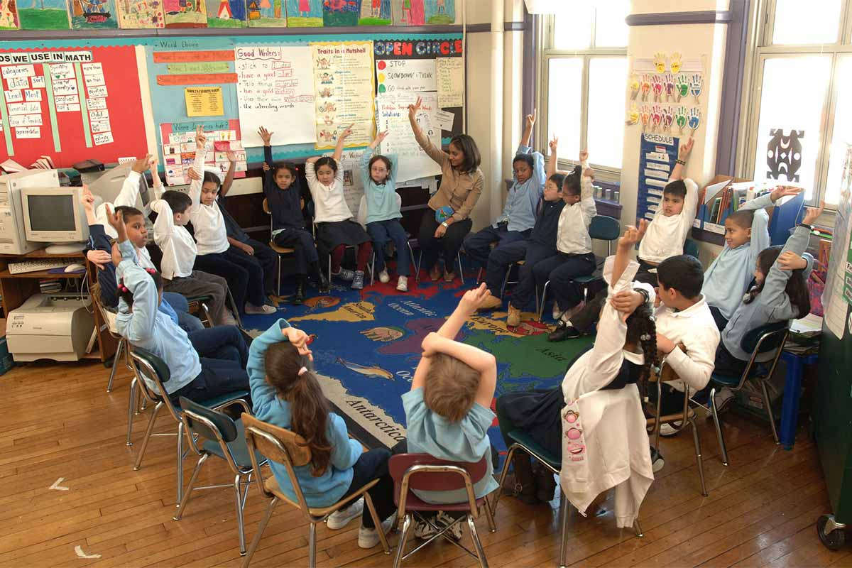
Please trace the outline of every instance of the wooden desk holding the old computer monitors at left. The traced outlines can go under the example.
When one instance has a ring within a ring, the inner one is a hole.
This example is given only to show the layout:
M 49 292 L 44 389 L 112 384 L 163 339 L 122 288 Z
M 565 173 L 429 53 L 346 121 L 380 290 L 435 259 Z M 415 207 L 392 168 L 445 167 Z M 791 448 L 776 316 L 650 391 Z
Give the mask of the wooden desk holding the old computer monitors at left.
M 85 264 L 87 270 L 85 273 L 67 274 L 49 273 L 46 270 L 40 270 L 35 273 L 12 274 L 6 268 L 9 262 L 37 258 L 68 258 L 75 259 L 75 261 L 76 259 L 80 259 L 80 263 Z M 38 294 L 41 291 L 38 281 L 42 278 L 86 278 L 88 276 L 90 284 L 97 281 L 94 270 L 94 265 L 86 261 L 83 251 L 67 253 L 65 255 L 49 255 L 43 249 L 39 249 L 33 250 L 26 255 L 0 254 L 0 294 L 3 295 L 3 315 L 8 318 L 9 312 L 20 307 L 31 295 Z M 106 362 L 115 354 L 118 341 L 107 332 L 104 326 L 105 322 L 101 320 L 101 313 L 95 310 L 95 330 L 98 336 L 97 347 L 91 353 L 84 353 L 82 359 L 100 359 L 101 362 Z

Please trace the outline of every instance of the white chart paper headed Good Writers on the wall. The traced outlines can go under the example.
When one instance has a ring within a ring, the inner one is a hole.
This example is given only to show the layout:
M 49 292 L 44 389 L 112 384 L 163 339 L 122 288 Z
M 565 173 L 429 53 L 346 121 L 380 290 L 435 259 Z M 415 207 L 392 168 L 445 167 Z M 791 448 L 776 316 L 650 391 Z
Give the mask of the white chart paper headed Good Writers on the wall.
M 263 146 L 261 126 L 274 133 L 273 146 L 315 142 L 310 47 L 240 45 L 233 51 L 243 146 Z

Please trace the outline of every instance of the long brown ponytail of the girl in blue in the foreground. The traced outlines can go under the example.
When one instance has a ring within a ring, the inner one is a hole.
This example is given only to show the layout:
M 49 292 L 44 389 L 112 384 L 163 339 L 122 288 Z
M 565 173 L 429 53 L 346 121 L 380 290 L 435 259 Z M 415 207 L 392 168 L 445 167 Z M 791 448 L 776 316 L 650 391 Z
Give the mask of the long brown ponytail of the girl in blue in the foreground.
M 267 381 L 278 396 L 290 403 L 291 430 L 302 436 L 311 450 L 311 475 L 320 477 L 331 461 L 331 444 L 325 438 L 331 407 L 317 382 L 308 358 L 289 341 L 267 349 Z M 301 372 L 302 367 L 305 368 Z

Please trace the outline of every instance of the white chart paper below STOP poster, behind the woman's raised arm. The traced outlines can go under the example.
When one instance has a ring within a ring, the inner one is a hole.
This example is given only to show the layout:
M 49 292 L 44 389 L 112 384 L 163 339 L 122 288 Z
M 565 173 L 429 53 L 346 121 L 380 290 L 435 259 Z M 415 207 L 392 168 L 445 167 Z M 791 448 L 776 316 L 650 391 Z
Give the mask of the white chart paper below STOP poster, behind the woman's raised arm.
M 423 106 L 417 113 L 417 122 L 423 134 L 440 148 L 440 128 L 435 123 L 437 93 L 395 93 L 378 95 L 376 98 L 378 129 L 388 130 L 388 137 L 382 142 L 382 153 L 396 154 L 399 163 L 396 181 L 440 174 L 440 165 L 417 144 L 412 125 L 408 122 L 408 106 L 417 102 L 418 96 L 423 99 Z

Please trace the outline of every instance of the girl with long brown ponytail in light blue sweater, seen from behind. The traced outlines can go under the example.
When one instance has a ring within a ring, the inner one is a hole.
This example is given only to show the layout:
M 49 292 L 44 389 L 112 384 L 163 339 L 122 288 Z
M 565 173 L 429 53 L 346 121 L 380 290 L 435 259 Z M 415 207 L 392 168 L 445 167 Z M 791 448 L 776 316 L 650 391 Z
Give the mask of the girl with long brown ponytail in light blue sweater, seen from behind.
M 291 430 L 304 439 L 311 461 L 293 471 L 308 506 L 328 507 L 378 479 L 369 493 L 387 532 L 395 511 L 394 481 L 388 472 L 390 452 L 377 449 L 362 453 L 360 443 L 348 437 L 343 418 L 331 412 L 312 361 L 308 336 L 285 319 L 279 319 L 252 341 L 247 370 L 254 414 L 258 420 Z M 269 466 L 281 491 L 296 501 L 285 466 L 277 462 L 269 462 Z M 358 515 L 358 546 L 372 548 L 379 536 L 363 499 L 332 513 L 328 528 L 343 528 Z

